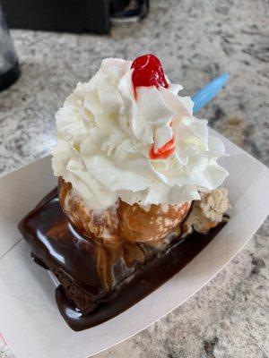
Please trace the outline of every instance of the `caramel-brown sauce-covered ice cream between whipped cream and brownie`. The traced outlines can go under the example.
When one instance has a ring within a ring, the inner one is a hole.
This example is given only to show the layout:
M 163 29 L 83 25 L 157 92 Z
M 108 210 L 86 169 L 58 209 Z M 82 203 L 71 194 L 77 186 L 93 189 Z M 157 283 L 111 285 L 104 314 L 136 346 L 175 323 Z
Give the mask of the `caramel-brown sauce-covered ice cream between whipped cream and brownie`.
M 121 241 L 160 242 L 183 222 L 191 206 L 191 202 L 186 202 L 143 208 L 118 200 L 112 207 L 96 212 L 85 205 L 72 184 L 63 178 L 59 179 L 58 195 L 62 209 L 80 234 L 116 248 Z

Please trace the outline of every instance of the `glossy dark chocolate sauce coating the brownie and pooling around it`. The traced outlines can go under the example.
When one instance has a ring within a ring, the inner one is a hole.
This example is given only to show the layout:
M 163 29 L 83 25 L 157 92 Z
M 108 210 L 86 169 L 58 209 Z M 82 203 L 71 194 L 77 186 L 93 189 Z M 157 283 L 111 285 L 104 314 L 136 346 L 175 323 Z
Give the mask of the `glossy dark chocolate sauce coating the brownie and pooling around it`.
M 59 268 L 84 293 L 91 295 L 92 311 L 82 314 L 67 298 L 64 287 L 56 288 L 56 302 L 65 321 L 74 330 L 82 330 L 115 317 L 151 294 L 193 260 L 226 222 L 207 234 L 194 232 L 172 241 L 162 251 L 135 244 L 144 252 L 143 262 L 134 262 L 131 268 L 122 265 L 122 260 L 116 262 L 115 283 L 110 290 L 104 287 L 98 274 L 100 245 L 74 230 L 60 208 L 56 190 L 22 219 L 19 228 L 37 263 L 45 268 Z

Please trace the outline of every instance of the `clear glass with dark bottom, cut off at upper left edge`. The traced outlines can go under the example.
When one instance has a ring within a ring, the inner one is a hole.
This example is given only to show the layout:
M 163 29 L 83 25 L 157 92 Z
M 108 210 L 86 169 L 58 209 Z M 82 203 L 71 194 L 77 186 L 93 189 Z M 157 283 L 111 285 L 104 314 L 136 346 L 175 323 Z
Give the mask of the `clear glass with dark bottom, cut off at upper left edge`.
M 0 4 L 0 90 L 7 89 L 19 75 L 18 57 Z

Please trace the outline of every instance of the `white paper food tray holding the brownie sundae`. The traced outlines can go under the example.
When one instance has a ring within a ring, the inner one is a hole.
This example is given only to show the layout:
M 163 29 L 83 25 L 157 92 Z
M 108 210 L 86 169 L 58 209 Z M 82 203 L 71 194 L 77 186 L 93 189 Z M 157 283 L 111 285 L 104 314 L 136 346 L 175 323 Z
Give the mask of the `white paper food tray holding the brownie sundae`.
M 227 265 L 269 212 L 269 170 L 230 141 L 221 140 L 231 155 L 220 161 L 230 172 L 224 184 L 232 205 L 228 225 L 159 289 L 114 319 L 81 332 L 74 332 L 62 319 L 54 283 L 46 270 L 30 260 L 30 247 L 17 230 L 20 219 L 56 185 L 50 157 L 0 179 L 0 331 L 16 358 L 97 354 L 160 320 Z

